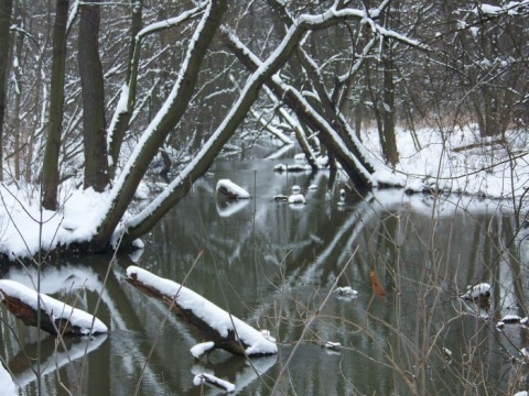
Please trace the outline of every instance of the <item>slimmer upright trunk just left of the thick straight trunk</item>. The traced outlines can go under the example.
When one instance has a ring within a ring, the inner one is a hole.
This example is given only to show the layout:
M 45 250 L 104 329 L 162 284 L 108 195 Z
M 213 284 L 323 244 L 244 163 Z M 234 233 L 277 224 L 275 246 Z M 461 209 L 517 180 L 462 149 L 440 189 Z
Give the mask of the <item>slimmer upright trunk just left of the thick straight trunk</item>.
M 53 28 L 52 80 L 50 87 L 50 125 L 43 160 L 43 201 L 45 209 L 57 209 L 58 153 L 64 105 L 64 74 L 66 64 L 66 24 L 68 20 L 68 0 L 57 0 L 55 25 Z

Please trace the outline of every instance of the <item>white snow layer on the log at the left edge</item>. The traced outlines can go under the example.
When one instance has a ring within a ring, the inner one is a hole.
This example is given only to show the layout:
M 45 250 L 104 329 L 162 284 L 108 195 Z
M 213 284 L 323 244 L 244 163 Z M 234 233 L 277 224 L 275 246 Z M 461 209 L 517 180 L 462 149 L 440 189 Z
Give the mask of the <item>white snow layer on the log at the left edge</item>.
M 8 301 L 8 299 L 10 301 L 13 299 L 20 300 L 22 304 L 33 309 L 36 315 L 39 298 L 37 293 L 34 289 L 14 280 L 0 279 L 0 295 L 4 304 Z M 53 320 L 61 330 L 64 328 L 64 324 L 67 321 L 72 327 L 73 333 L 97 334 L 108 332 L 108 328 L 105 326 L 105 323 L 84 310 L 71 307 L 67 304 L 56 300 L 55 298 L 46 296 L 42 293 L 40 294 L 40 308 L 47 314 L 50 319 Z M 44 320 L 42 320 L 42 323 L 44 323 Z M 47 329 L 46 331 L 55 332 L 54 329 Z

